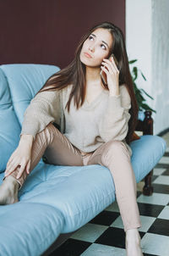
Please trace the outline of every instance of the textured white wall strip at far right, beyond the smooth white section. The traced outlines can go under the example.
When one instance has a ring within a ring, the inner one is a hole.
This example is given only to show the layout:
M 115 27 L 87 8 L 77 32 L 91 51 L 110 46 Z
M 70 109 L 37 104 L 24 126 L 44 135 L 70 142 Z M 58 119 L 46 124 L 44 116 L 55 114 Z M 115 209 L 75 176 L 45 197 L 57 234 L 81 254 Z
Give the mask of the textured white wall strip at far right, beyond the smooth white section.
M 169 1 L 152 1 L 152 92 L 156 131 L 169 127 Z

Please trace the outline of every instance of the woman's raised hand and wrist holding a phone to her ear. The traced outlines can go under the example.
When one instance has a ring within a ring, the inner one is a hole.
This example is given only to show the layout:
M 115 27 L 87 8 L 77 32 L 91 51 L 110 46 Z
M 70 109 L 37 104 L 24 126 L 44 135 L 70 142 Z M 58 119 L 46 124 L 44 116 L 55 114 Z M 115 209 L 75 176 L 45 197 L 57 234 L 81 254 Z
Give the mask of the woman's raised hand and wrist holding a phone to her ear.
M 119 95 L 119 70 L 113 58 L 103 58 L 101 70 L 106 73 L 107 86 L 111 96 Z

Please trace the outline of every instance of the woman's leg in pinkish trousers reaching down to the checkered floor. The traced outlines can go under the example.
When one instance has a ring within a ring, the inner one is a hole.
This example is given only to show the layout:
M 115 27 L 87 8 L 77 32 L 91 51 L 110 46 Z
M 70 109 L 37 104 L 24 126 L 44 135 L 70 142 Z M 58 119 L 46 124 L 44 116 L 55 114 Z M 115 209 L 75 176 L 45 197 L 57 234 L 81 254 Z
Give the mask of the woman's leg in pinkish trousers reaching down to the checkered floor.
M 128 256 L 141 256 L 138 228 L 141 226 L 137 204 L 137 186 L 128 148 L 123 142 L 110 141 L 86 157 L 86 165 L 101 164 L 112 173 L 116 198 L 126 232 Z

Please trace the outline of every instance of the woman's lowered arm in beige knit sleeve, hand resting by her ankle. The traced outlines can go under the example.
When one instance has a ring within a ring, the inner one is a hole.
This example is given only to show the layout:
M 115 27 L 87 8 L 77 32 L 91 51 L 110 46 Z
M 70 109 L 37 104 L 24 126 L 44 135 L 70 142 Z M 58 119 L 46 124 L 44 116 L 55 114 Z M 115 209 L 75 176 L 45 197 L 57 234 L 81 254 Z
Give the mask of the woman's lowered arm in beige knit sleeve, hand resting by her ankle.
M 60 121 L 60 91 L 40 92 L 30 102 L 25 110 L 19 146 L 8 159 L 5 176 L 10 175 L 20 166 L 19 176 L 23 171 L 30 173 L 31 148 L 37 133 L 45 129 L 46 125 Z

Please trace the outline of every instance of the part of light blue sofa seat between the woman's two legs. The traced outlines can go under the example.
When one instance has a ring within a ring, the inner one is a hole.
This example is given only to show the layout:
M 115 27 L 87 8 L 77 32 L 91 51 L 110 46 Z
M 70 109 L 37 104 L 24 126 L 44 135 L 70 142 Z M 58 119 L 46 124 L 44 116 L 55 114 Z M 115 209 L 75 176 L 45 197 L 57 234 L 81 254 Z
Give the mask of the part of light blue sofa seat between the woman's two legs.
M 110 205 L 115 200 L 115 188 L 110 171 L 99 164 L 46 164 L 31 172 L 19 199 L 46 203 L 60 210 L 64 216 L 62 233 L 68 233 L 85 225 Z

